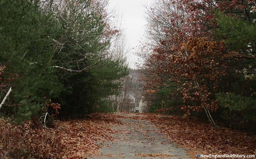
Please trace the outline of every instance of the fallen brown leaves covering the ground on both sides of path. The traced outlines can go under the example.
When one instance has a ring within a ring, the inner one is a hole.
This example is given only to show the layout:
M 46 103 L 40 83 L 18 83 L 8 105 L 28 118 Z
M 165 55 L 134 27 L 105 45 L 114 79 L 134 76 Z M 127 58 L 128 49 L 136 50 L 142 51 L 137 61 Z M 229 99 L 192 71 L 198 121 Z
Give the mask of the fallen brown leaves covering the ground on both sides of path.
M 128 117 L 116 114 L 93 114 L 90 119 L 57 120 L 54 123 L 55 127 L 53 130 L 32 128 L 31 123 L 25 124 L 23 127 L 11 126 L 2 121 L 2 124 L 5 126 L 2 129 L 4 131 L 0 131 L 2 132 L 0 152 L 3 152 L 2 154 L 0 153 L 0 156 L 6 154 L 5 152 L 7 151 L 11 152 L 10 150 L 14 150 L 14 148 L 16 148 L 16 152 L 19 152 L 18 149 L 21 150 L 21 148 L 30 151 L 33 149 L 33 152 L 38 152 L 37 156 L 48 155 L 53 158 L 79 159 L 86 158 L 89 155 L 98 155 L 97 150 L 101 147 L 101 143 L 113 141 L 111 134 L 122 132 L 127 135 L 131 133 L 122 128 L 120 130 L 111 129 L 116 123 L 124 124 L 118 118 L 140 119 L 138 123 L 143 122 L 143 120 L 151 121 L 158 128 L 157 131 L 165 134 L 171 142 L 179 144 L 180 147 L 187 148 L 190 153 L 252 155 L 256 152 L 255 136 L 225 127 L 213 128 L 211 125 L 205 124 L 198 119 L 185 119 L 179 116 L 166 116 L 162 118 L 156 114 L 143 114 L 140 116 L 131 114 Z M 126 125 L 129 126 L 129 124 Z M 137 125 L 135 125 L 136 127 Z M 153 130 L 147 129 L 146 131 Z M 148 139 L 150 137 L 152 136 L 144 138 Z M 4 141 L 7 141 L 8 145 Z M 26 145 L 22 144 L 23 141 Z M 14 151 L 12 152 L 14 153 Z M 58 152 L 61 155 L 54 155 Z M 134 152 L 135 150 L 131 151 L 131 153 Z M 20 158 L 24 157 L 24 155 L 17 153 L 13 155 L 20 155 Z M 32 155 L 30 154 L 29 156 L 33 157 Z M 117 155 L 121 155 L 121 153 Z M 137 153 L 135 155 L 171 157 L 164 154 Z M 8 156 L 5 156 L 5 158 L 8 158 Z

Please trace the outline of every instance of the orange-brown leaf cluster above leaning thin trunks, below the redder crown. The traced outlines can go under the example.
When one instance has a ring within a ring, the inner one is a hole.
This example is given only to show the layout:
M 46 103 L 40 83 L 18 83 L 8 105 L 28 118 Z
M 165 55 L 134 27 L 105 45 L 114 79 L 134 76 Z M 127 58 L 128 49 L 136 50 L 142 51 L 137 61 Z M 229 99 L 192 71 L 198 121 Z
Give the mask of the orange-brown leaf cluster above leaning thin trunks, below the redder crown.
M 225 61 L 231 57 L 223 57 L 223 42 L 205 37 L 184 37 L 182 41 L 176 41 L 175 45 L 178 47 L 172 47 L 172 42 L 156 47 L 152 54 L 154 58 L 148 59 L 152 61 L 152 65 L 148 65 L 146 69 L 154 73 L 142 79 L 145 82 L 145 92 L 154 94 L 168 79 L 178 84 L 174 93 L 183 99 L 186 112 L 189 113 L 188 109 L 201 111 L 204 107 L 216 110 L 219 103 L 214 98 L 215 89 L 212 88 L 217 88 L 219 79 L 225 76 L 225 68 L 228 67 Z M 156 62 L 153 62 L 155 59 Z

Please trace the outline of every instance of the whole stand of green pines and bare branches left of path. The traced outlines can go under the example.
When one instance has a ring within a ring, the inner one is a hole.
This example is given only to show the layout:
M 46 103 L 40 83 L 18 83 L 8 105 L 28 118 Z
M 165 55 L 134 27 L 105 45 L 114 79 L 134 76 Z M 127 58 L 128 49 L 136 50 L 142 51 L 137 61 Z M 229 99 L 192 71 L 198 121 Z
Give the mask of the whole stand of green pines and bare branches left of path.
M 70 118 L 103 110 L 101 99 L 118 94 L 128 71 L 122 52 L 113 49 L 122 47 L 112 42 L 122 40 L 122 32 L 109 20 L 107 1 L 0 5 L 1 96 L 13 88 L 4 115 L 16 122 L 47 111 Z

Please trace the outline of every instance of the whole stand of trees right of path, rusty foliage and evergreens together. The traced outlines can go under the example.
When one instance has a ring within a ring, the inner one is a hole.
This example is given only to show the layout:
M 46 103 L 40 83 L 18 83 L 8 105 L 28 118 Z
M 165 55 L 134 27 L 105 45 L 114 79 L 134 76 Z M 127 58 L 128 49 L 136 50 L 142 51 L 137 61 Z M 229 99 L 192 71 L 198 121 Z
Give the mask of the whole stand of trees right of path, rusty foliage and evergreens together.
M 254 131 L 255 2 L 158 0 L 147 9 L 140 69 L 151 103 Z

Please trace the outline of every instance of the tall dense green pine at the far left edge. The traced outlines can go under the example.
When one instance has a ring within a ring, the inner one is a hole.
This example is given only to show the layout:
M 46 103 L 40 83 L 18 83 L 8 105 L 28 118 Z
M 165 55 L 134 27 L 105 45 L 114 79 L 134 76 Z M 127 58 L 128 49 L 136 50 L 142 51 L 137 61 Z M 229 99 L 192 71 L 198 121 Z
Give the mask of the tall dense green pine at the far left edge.
M 57 97 L 62 90 L 51 67 L 54 45 L 49 38 L 58 28 L 52 14 L 40 10 L 38 1 L 6 0 L 0 6 L 0 63 L 7 67 L 5 78 L 18 75 L 12 83 L 16 117 L 30 119 L 40 112 L 44 97 Z

